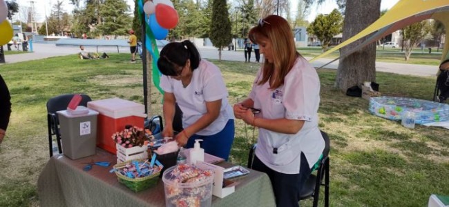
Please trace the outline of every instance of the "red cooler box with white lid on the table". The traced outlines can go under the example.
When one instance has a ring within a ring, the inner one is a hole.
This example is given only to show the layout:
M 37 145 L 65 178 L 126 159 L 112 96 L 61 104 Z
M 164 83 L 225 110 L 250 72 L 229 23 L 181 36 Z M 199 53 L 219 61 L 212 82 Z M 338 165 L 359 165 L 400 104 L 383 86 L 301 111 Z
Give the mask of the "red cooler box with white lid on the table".
M 99 112 L 97 119 L 97 146 L 116 154 L 113 133 L 125 129 L 126 125 L 144 128 L 145 106 L 119 98 L 90 101 L 87 107 Z

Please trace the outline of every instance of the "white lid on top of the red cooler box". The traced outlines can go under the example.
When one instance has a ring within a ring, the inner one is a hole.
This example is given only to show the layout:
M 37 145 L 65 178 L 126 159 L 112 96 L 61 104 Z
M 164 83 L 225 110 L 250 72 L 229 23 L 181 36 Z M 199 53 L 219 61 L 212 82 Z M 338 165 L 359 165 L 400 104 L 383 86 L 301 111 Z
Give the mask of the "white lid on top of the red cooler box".
M 113 119 L 131 116 L 146 117 L 143 104 L 119 98 L 89 101 L 87 107 Z

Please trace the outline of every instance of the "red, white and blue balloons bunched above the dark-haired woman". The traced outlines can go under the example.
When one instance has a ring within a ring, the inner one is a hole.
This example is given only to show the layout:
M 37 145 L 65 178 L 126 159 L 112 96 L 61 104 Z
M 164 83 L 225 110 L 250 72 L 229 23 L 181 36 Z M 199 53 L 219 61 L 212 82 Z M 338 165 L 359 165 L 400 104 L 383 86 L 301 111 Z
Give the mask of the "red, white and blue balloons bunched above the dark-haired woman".
M 169 29 L 178 23 L 178 12 L 170 0 L 153 0 L 144 3 L 144 12 L 149 16 L 149 26 L 155 39 L 164 39 Z

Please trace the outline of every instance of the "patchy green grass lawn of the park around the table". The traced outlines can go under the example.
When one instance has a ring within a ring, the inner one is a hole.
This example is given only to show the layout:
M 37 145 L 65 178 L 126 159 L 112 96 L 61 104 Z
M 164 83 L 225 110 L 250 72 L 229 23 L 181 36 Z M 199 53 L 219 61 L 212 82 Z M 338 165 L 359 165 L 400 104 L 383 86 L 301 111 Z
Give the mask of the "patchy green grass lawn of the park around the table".
M 120 97 L 143 103 L 142 65 L 126 54 L 80 60 L 76 55 L 0 67 L 12 95 L 12 116 L 0 146 L 0 206 L 38 206 L 37 177 L 48 161 L 46 101 L 84 92 L 92 99 Z M 245 99 L 258 63 L 213 61 L 222 69 L 229 102 Z M 331 206 L 426 206 L 432 193 L 449 195 L 449 130 L 375 117 L 368 101 L 334 90 L 336 70 L 319 70 L 321 130 L 331 140 Z M 384 95 L 431 99 L 435 78 L 378 72 Z M 161 95 L 152 92 L 151 115 L 160 115 Z M 246 166 L 257 132 L 236 121 L 230 161 Z M 255 189 L 256 190 L 256 189 Z M 323 197 L 321 197 L 323 198 Z M 312 206 L 311 201 L 301 201 Z

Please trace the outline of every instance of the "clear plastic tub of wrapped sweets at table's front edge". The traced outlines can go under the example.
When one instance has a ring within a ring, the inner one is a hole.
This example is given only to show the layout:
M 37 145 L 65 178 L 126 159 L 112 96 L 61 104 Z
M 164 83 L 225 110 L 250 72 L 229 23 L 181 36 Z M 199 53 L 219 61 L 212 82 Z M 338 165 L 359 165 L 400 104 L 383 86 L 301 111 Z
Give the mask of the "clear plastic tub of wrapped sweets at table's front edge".
M 213 175 L 197 182 L 180 183 L 174 181 L 174 177 L 171 175 L 175 167 L 165 170 L 162 176 L 165 189 L 165 206 L 211 206 Z

